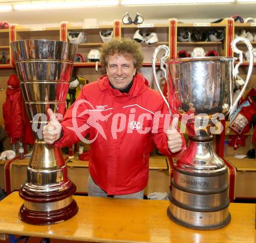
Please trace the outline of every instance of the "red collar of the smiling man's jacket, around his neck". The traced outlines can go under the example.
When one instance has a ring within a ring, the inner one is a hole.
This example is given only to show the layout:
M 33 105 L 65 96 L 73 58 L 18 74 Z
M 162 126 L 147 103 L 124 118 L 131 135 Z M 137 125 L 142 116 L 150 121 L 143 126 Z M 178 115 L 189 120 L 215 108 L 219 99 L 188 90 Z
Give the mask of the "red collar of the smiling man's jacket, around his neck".
M 133 77 L 133 85 L 131 85 L 130 91 L 127 94 L 112 88 L 106 75 L 99 77 L 98 85 L 101 91 L 109 90 L 111 95 L 115 97 L 136 97 L 148 88 L 148 81 L 140 73 L 137 73 Z

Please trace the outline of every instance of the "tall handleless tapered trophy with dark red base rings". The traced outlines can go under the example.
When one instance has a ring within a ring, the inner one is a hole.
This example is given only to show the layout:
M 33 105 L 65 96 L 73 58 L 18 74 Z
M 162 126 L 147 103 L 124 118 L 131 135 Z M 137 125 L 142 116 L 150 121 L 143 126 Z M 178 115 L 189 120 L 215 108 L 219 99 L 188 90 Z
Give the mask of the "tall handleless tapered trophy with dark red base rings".
M 61 149 L 44 142 L 42 128 L 49 120 L 48 108 L 60 114 L 59 120 L 65 111 L 77 46 L 48 40 L 15 41 L 10 45 L 35 137 L 27 181 L 19 192 L 24 199 L 19 217 L 30 224 L 58 223 L 78 210 L 72 198 L 76 186 L 67 178 Z

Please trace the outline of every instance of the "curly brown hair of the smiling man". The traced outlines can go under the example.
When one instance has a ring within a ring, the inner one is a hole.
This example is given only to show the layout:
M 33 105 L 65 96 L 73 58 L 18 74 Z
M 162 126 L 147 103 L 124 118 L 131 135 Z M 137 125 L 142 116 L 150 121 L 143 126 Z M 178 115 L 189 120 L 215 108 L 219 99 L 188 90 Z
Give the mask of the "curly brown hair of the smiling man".
M 116 53 L 125 56 L 127 59 L 132 58 L 136 72 L 140 69 L 144 59 L 140 44 L 130 38 L 113 38 L 111 41 L 102 45 L 100 52 L 101 65 L 104 69 L 108 65 L 108 57 Z

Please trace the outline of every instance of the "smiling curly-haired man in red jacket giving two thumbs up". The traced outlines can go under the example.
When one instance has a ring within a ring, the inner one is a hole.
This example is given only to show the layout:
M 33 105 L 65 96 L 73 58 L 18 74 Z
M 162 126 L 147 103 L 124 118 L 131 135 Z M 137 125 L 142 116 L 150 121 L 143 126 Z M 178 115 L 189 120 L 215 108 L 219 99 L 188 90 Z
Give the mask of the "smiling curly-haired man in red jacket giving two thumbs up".
M 115 38 L 101 48 L 106 75 L 83 87 L 63 122 L 48 110 L 51 122 L 43 131 L 48 144 L 63 147 L 90 134 L 89 196 L 143 198 L 152 140 L 168 156 L 184 148 L 182 135 L 169 128 L 172 117 L 161 95 L 138 73 L 142 63 L 137 42 Z

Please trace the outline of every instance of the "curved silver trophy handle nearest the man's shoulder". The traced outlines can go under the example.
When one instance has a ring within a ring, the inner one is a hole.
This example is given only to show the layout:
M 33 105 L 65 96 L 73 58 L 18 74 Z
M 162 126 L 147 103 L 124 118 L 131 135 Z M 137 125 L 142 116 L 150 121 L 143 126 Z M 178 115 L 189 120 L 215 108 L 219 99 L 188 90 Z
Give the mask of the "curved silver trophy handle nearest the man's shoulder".
M 169 59 L 170 50 L 169 50 L 169 47 L 167 45 L 159 45 L 159 47 L 155 48 L 153 58 L 152 58 L 152 69 L 153 69 L 153 74 L 154 74 L 154 78 L 155 78 L 155 84 L 157 84 L 158 91 L 160 92 L 160 94 L 163 98 L 163 101 L 165 101 L 165 103 L 168 107 L 169 113 L 172 114 L 172 112 L 170 111 L 170 105 L 169 105 L 168 101 L 166 100 L 165 96 L 163 95 L 163 92 L 160 88 L 158 78 L 157 78 L 157 71 L 156 71 L 156 68 L 155 68 L 156 67 L 156 62 L 157 62 L 157 54 L 161 49 L 165 50 L 165 55 L 163 55 L 163 57 L 160 59 L 160 68 L 163 71 L 163 73 L 165 75 L 166 83 L 168 84 L 168 76 L 167 76 L 167 68 L 168 67 L 165 64 L 165 60 Z

